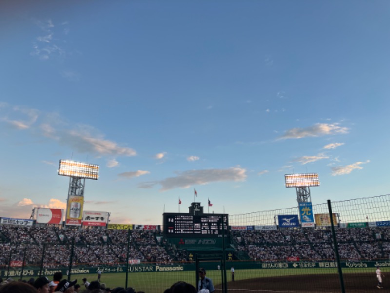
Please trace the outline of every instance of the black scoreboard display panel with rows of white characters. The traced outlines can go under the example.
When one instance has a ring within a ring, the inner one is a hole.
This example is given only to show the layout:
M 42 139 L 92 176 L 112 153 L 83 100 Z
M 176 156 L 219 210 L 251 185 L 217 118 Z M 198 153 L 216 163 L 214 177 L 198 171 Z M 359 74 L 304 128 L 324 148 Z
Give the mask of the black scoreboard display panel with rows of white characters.
M 163 232 L 166 236 L 222 237 L 222 219 L 227 235 L 227 214 L 164 213 L 163 218 Z

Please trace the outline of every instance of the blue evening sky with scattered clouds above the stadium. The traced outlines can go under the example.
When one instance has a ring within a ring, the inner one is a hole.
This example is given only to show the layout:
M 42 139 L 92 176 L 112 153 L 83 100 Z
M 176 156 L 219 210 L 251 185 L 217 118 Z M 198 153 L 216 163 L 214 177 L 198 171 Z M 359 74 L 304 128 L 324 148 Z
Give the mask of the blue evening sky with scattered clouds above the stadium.
M 0 216 L 297 206 L 389 193 L 389 1 L 1 1 Z

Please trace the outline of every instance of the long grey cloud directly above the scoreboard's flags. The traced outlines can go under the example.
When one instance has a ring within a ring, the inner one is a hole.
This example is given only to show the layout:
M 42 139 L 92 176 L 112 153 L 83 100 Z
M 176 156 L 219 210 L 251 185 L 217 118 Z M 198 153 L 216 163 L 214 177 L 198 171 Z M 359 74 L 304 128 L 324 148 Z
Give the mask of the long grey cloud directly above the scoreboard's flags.
M 213 182 L 244 181 L 246 169 L 232 167 L 229 169 L 205 169 L 177 172 L 176 177 L 169 177 L 161 181 L 145 182 L 140 188 L 152 188 L 161 185 L 160 190 L 166 191 L 174 188 L 189 188 L 195 185 L 204 185 Z

